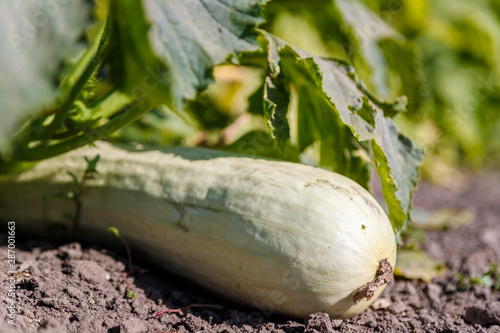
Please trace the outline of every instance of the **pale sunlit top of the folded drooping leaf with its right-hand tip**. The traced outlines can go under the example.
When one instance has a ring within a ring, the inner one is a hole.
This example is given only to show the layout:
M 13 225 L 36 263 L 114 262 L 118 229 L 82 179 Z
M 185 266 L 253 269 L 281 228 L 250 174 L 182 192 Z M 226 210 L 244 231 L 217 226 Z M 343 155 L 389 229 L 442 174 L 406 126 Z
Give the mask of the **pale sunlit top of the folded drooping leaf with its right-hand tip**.
M 314 61 L 321 71 L 318 76 L 322 77 L 322 89 L 341 120 L 358 141 L 371 139 L 391 222 L 396 232 L 401 231 L 410 219 L 412 192 L 418 181 L 423 150 L 399 133 L 392 120 L 384 117 L 383 111 L 362 94 L 347 75 L 348 70 L 342 70 L 342 66 L 332 61 L 316 57 Z M 367 114 L 374 118 L 370 120 Z

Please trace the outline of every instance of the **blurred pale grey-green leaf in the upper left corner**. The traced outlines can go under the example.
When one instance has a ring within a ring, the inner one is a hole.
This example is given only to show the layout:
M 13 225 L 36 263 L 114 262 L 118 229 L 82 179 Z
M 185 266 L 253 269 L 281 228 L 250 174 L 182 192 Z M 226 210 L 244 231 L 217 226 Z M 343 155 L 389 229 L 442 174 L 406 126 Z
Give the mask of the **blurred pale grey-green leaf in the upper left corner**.
M 0 4 L 0 149 L 30 115 L 54 106 L 64 61 L 90 22 L 85 1 Z

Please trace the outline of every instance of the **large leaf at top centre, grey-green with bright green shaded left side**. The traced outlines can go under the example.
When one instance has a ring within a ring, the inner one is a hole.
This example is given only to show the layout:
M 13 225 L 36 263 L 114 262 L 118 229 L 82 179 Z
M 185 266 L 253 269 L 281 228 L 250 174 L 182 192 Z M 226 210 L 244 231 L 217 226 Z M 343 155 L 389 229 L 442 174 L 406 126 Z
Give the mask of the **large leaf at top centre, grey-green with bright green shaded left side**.
M 255 51 L 263 0 L 112 0 L 114 82 L 136 99 L 181 108 L 212 68 Z

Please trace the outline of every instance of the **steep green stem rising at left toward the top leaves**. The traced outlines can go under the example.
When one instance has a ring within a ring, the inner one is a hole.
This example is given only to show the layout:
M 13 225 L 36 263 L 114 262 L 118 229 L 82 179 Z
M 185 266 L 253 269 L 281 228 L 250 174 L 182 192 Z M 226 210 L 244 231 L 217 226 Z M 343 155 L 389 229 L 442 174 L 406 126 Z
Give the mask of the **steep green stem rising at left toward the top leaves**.
M 78 75 L 81 71 L 82 64 L 87 61 L 87 66 L 85 70 L 78 77 L 74 85 L 72 85 L 71 90 L 69 91 L 68 96 L 61 104 L 61 107 L 56 112 L 54 119 L 52 122 L 43 128 L 43 130 L 39 134 L 40 140 L 47 140 L 54 135 L 58 128 L 61 127 L 64 118 L 66 118 L 68 112 L 71 110 L 73 103 L 75 102 L 78 95 L 80 95 L 80 91 L 83 89 L 85 84 L 87 83 L 90 76 L 94 73 L 94 71 L 101 65 L 104 59 L 104 53 L 107 49 L 106 43 L 108 40 L 108 24 L 104 22 L 103 27 L 101 28 L 102 32 L 99 38 L 95 38 L 94 42 L 89 46 L 85 54 L 82 56 L 82 59 L 75 66 L 75 70 L 71 73 L 67 79 L 63 82 L 64 85 L 71 85 L 74 77 Z M 99 35 L 99 34 L 98 34 Z M 96 41 L 99 41 L 97 43 Z M 97 44 L 97 47 L 96 47 Z M 97 50 L 96 50 L 97 48 Z M 93 57 L 90 57 L 91 54 L 94 54 Z M 88 59 L 90 58 L 90 61 Z

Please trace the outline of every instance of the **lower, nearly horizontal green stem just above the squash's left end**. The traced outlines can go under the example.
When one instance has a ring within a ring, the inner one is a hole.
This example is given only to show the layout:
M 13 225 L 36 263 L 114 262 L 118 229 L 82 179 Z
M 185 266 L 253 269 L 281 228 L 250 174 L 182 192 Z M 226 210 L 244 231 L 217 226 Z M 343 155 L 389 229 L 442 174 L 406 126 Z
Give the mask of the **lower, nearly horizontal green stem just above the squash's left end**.
M 137 120 L 143 114 L 148 112 L 152 105 L 146 102 L 128 105 L 124 111 L 114 116 L 106 124 L 94 128 L 70 140 L 56 143 L 53 145 L 43 145 L 34 148 L 24 148 L 15 150 L 13 161 L 38 161 L 66 153 L 70 150 L 80 148 L 89 143 L 101 140 L 111 133 L 129 125 Z

